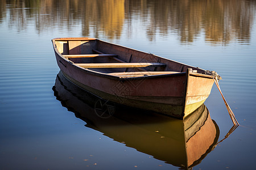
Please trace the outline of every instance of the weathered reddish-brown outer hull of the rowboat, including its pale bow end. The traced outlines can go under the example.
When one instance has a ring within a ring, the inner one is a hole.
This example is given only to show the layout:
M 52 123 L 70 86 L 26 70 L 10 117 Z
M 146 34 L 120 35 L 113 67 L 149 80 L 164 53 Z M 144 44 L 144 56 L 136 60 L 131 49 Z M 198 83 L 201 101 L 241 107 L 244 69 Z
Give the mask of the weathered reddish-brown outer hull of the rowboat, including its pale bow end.
M 190 73 L 188 69 L 177 74 L 117 78 L 74 65 L 57 50 L 54 41 L 53 48 L 64 76 L 84 90 L 117 104 L 180 119 L 204 103 L 214 82 L 211 76 Z

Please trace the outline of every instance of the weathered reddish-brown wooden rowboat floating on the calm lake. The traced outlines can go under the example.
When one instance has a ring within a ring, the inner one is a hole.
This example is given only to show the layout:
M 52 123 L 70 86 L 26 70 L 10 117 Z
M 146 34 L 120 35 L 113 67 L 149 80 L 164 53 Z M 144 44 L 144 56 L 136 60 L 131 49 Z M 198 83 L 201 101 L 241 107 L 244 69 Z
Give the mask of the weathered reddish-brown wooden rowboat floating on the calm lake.
M 52 44 L 57 65 L 77 86 L 114 103 L 181 119 L 204 103 L 218 76 L 93 38 L 57 38 Z

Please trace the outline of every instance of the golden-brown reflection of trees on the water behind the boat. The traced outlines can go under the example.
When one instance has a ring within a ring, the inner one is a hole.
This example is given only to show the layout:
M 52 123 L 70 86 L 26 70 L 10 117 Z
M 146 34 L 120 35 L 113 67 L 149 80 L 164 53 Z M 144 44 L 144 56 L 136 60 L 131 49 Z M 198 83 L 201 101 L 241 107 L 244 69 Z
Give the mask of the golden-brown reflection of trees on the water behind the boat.
M 83 36 L 104 34 L 109 39 L 145 29 L 148 40 L 175 33 L 181 43 L 187 43 L 203 33 L 210 43 L 248 43 L 255 7 L 253 0 L 0 0 L 0 23 L 7 18 L 9 25 L 26 29 L 32 22 L 38 32 L 81 24 Z M 141 24 L 135 22 L 138 18 Z

